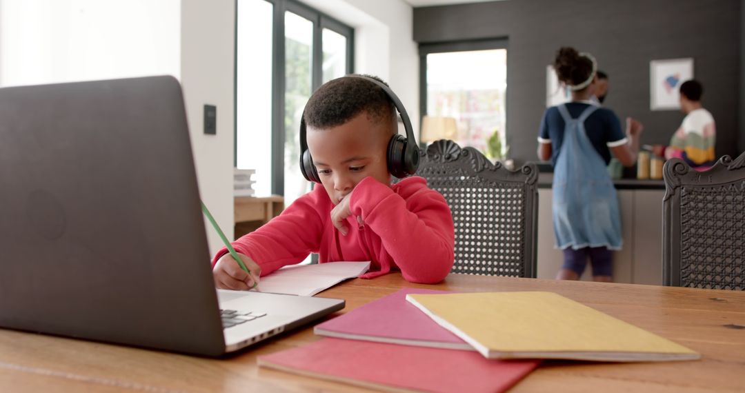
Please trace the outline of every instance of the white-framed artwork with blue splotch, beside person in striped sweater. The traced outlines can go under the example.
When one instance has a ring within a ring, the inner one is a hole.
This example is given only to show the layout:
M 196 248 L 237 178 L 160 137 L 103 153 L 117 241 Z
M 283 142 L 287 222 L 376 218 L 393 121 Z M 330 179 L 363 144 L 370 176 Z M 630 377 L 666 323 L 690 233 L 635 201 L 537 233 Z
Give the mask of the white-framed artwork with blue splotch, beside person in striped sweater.
M 669 59 L 650 62 L 650 109 L 680 109 L 680 85 L 694 77 L 694 60 Z

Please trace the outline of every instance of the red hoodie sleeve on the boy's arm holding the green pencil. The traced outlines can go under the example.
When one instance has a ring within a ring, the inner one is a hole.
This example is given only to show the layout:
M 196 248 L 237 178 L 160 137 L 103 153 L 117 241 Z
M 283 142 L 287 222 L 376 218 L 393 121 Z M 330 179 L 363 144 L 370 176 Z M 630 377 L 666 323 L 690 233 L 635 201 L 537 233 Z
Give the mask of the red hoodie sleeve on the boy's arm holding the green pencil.
M 262 276 L 282 266 L 301 262 L 319 248 L 323 220 L 318 206 L 324 205 L 320 200 L 323 197 L 328 199 L 326 191 L 317 187 L 296 199 L 282 214 L 231 245 L 236 252 L 248 255 L 259 264 Z M 227 253 L 223 247 L 212 259 L 212 267 Z

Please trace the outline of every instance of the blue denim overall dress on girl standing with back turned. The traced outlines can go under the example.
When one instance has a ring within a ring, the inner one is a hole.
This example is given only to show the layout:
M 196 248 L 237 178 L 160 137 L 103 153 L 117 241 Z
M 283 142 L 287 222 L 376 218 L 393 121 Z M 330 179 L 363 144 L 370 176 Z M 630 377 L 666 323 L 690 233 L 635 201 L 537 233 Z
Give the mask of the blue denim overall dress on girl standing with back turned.
M 559 249 L 606 246 L 621 249 L 618 196 L 600 153 L 585 132 L 585 120 L 599 107 L 588 106 L 580 117 L 557 106 L 564 118 L 564 138 L 554 165 L 554 233 Z

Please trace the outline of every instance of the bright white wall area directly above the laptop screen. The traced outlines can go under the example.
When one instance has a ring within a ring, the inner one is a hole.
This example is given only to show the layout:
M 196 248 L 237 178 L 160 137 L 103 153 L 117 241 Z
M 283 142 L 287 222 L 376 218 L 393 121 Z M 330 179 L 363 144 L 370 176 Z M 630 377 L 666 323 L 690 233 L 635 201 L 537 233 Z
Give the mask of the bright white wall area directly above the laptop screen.
M 178 78 L 179 9 L 179 0 L 0 0 L 0 86 Z

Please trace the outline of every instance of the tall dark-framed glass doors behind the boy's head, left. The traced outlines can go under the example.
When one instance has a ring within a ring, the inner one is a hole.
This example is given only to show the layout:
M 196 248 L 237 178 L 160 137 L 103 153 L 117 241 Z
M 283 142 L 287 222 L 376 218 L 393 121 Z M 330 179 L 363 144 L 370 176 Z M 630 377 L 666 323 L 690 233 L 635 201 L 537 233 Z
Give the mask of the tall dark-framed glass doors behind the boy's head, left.
M 291 0 L 238 0 L 235 30 L 235 164 L 256 169 L 257 195 L 289 205 L 310 189 L 299 170 L 302 109 L 322 83 L 352 72 L 353 31 Z

